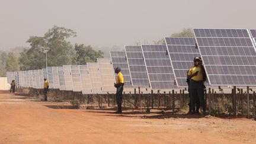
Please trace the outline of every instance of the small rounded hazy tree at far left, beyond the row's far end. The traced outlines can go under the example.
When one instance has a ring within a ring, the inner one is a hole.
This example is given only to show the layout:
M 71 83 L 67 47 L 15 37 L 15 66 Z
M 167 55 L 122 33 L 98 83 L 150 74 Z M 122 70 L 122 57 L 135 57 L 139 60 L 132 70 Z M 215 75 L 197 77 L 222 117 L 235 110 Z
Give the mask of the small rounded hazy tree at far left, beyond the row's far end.
M 12 52 L 8 53 L 5 69 L 8 72 L 18 71 L 20 69 L 18 57 Z

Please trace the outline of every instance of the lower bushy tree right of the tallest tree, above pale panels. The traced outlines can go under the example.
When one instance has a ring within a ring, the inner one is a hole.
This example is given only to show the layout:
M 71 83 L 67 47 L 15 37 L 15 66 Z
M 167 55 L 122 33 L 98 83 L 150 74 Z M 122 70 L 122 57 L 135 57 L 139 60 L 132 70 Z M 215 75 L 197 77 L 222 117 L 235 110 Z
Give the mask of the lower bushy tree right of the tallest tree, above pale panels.
M 103 57 L 101 50 L 92 49 L 91 45 L 75 44 L 76 65 L 85 65 L 87 62 L 97 62 L 97 58 Z

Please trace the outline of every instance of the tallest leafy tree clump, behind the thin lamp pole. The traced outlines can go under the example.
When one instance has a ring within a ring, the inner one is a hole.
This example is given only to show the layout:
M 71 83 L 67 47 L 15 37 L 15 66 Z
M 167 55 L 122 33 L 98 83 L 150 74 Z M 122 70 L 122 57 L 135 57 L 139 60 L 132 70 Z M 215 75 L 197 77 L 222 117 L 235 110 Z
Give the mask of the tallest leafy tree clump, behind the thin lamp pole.
M 67 41 L 69 37 L 75 37 L 76 33 L 71 29 L 54 26 L 43 37 L 32 36 L 27 40 L 29 49 L 24 49 L 20 56 L 22 70 L 41 69 L 47 65 L 70 65 L 75 58 L 75 50 Z

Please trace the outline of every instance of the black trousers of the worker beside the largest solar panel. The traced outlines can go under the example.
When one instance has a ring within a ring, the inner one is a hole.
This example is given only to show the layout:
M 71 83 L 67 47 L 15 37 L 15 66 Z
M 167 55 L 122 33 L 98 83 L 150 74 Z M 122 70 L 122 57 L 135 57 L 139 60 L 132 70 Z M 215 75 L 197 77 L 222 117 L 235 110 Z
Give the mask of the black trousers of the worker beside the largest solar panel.
M 206 104 L 204 102 L 204 85 L 203 82 L 190 81 L 190 104 L 191 110 L 195 110 L 195 103 L 197 97 L 199 98 L 200 105 L 203 108 L 203 111 L 206 110 Z

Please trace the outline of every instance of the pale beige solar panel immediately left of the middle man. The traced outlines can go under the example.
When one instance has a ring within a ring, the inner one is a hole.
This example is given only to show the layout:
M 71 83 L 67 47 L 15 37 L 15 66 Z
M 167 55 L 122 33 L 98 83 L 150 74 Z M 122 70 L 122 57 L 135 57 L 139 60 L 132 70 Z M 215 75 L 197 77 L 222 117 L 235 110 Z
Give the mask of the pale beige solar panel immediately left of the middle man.
M 103 92 L 114 92 L 114 72 L 111 66 L 110 58 L 98 58 L 98 68 L 101 78 L 101 87 Z

